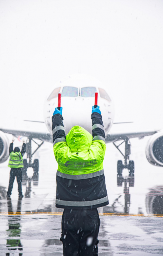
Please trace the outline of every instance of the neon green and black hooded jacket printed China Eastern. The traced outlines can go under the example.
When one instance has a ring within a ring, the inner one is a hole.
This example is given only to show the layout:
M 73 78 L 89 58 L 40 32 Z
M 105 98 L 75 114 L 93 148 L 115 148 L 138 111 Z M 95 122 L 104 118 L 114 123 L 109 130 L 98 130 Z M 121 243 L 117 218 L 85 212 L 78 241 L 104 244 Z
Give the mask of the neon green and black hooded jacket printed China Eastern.
M 102 116 L 93 113 L 92 134 L 74 126 L 67 136 L 63 117 L 52 117 L 53 150 L 58 162 L 56 207 L 96 208 L 109 204 L 103 160 L 106 150 Z

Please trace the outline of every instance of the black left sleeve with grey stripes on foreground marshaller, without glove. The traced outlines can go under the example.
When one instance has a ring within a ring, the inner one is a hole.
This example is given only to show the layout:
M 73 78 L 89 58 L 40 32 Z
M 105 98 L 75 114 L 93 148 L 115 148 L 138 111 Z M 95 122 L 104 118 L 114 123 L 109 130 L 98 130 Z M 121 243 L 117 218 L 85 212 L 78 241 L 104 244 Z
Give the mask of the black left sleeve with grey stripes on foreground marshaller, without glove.
M 61 114 L 55 114 L 52 116 L 52 140 L 53 146 L 60 141 L 66 142 L 65 128 L 63 125 L 63 116 Z

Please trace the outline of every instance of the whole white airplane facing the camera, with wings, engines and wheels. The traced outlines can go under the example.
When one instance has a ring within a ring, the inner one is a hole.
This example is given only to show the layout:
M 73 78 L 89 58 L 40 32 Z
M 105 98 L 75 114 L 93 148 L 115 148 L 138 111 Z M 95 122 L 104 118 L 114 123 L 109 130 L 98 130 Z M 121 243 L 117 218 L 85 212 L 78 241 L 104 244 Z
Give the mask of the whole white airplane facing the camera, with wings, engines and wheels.
M 27 143 L 27 159 L 24 159 L 24 169 L 32 167 L 34 172 L 38 172 L 39 162 L 35 159 L 32 163 L 33 154 L 46 142 L 52 143 L 52 114 L 57 107 L 58 93 L 61 92 L 61 106 L 63 107 L 64 126 L 66 134 L 75 125 L 79 125 L 85 128 L 90 133 L 92 132 L 92 120 L 91 109 L 94 105 L 95 92 L 98 92 L 98 106 L 102 113 L 102 119 L 104 123 L 104 130 L 106 136 L 106 143 L 113 143 L 113 145 L 119 150 L 124 157 L 124 164 L 122 160 L 117 162 L 117 184 L 122 186 L 123 177 L 122 171 L 124 168 L 129 170 L 129 177 L 132 179 L 129 182 L 129 186 L 133 186 L 134 179 L 134 161 L 129 159 L 130 151 L 130 139 L 143 138 L 145 136 L 151 136 L 146 147 L 146 157 L 150 164 L 155 166 L 163 166 L 163 132 L 159 130 L 142 131 L 135 133 L 110 133 L 111 127 L 114 123 L 114 103 L 111 97 L 103 89 L 103 84 L 97 79 L 85 75 L 74 74 L 66 79 L 59 81 L 55 85 L 55 89 L 51 92 L 45 101 L 44 105 L 44 122 L 48 128 L 48 133 L 14 130 L 0 128 L 0 163 L 3 163 L 9 157 L 8 152 L 8 139 L 5 133 L 12 134 L 15 137 L 24 136 L 27 137 L 29 142 Z M 24 120 L 30 121 L 30 120 Z M 39 121 L 30 121 L 39 122 Z M 35 139 L 41 141 L 38 144 Z M 37 149 L 32 153 L 32 141 L 37 144 Z M 120 144 L 116 143 L 120 141 Z M 122 141 L 122 142 L 121 142 Z M 119 146 L 125 144 L 125 153 L 119 149 Z

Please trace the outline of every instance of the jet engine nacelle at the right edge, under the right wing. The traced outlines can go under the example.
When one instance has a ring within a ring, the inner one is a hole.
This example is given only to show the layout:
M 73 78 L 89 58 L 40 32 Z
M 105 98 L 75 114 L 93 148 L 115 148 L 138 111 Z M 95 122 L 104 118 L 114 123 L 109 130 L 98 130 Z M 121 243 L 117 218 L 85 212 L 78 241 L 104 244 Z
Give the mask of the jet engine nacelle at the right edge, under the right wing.
M 150 164 L 163 166 L 163 132 L 158 132 L 149 139 L 145 153 Z

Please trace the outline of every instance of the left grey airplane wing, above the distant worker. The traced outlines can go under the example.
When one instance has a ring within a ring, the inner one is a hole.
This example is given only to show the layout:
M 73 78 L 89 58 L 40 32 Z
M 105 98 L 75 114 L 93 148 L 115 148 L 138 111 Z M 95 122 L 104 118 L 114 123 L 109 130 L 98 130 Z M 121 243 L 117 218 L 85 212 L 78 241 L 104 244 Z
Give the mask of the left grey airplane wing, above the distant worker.
M 0 128 L 4 133 L 12 134 L 13 136 L 24 136 L 30 139 L 38 139 L 42 141 L 47 141 L 52 143 L 52 135 L 50 133 L 45 132 L 35 132 L 35 131 L 23 131 L 23 130 L 13 130 L 13 129 L 5 129 Z

